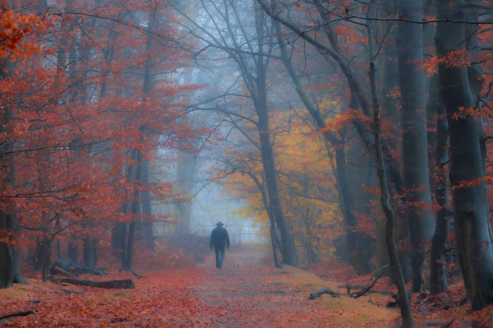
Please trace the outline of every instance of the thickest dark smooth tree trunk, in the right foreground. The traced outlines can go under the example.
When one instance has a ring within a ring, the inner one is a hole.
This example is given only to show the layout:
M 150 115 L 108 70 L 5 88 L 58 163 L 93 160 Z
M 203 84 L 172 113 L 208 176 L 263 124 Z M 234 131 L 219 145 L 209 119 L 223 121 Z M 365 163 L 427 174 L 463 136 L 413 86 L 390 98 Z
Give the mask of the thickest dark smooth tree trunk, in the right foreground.
M 464 20 L 460 1 L 437 1 L 437 19 Z M 464 50 L 463 24 L 437 23 L 435 43 L 439 58 Z M 438 65 L 442 98 L 450 135 L 450 183 L 458 262 L 472 310 L 493 303 L 493 240 L 489 222 L 483 158 L 480 147 L 480 119 L 460 109 L 475 107 L 464 66 Z M 473 184 L 467 184 L 468 182 Z M 462 185 L 462 183 L 465 183 Z

